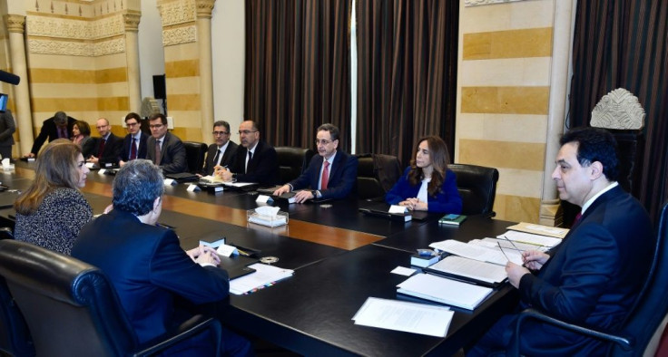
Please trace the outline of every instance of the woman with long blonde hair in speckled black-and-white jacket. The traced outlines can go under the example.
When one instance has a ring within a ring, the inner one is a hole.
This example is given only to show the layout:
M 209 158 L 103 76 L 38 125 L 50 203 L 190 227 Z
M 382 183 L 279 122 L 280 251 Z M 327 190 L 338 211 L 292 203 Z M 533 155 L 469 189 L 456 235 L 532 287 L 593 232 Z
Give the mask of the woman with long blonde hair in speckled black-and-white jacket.
M 78 145 L 66 139 L 46 145 L 33 183 L 14 203 L 15 238 L 69 255 L 79 230 L 93 217 L 79 191 L 88 172 Z

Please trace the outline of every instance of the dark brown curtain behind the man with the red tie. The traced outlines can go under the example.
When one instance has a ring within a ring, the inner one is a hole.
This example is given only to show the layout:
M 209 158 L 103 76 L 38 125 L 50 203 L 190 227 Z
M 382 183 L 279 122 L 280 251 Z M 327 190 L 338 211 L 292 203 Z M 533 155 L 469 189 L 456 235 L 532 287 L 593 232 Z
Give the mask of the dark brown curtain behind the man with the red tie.
M 246 0 L 244 118 L 276 146 L 313 148 L 330 122 L 350 149 L 351 0 Z

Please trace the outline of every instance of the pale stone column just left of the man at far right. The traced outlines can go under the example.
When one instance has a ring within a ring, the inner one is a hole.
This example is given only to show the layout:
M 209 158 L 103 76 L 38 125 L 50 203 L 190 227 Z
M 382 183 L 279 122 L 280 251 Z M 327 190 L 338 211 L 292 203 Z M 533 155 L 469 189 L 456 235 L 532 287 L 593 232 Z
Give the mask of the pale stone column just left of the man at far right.
M 555 157 L 559 151 L 559 138 L 564 132 L 566 98 L 568 93 L 568 63 L 573 36 L 573 1 L 555 1 L 555 25 L 552 47 L 552 72 L 550 73 L 550 107 L 547 113 L 547 142 L 545 143 L 545 172 L 543 173 L 543 198 L 540 204 L 540 224 L 561 226 L 563 212 L 552 180 Z

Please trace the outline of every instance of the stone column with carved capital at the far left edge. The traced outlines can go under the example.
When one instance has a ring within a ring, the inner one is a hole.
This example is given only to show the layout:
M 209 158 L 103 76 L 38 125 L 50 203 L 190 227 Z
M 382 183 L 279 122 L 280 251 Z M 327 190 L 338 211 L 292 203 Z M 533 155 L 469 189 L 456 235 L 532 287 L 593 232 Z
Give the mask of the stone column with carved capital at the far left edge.
M 25 61 L 25 16 L 20 14 L 5 14 L 5 23 L 9 32 L 9 56 L 12 61 L 12 71 L 21 77 L 21 82 L 15 86 L 16 110 L 14 118 L 18 130 L 19 145 L 17 154 L 23 156 L 33 148 L 33 111 L 30 108 L 30 91 L 28 90 L 28 64 Z

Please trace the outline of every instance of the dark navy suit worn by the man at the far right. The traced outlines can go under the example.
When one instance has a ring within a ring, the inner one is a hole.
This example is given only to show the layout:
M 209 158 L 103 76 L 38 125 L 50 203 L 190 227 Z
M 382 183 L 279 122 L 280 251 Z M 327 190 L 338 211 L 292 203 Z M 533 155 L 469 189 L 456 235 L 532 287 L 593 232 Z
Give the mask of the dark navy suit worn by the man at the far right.
M 572 323 L 614 331 L 649 274 L 655 245 L 644 208 L 622 188 L 612 188 L 587 208 L 537 275 L 522 277 L 522 304 Z M 515 323 L 509 327 L 514 329 Z M 524 324 L 520 333 L 526 355 L 605 351 L 600 341 L 544 323 Z

